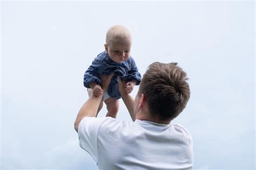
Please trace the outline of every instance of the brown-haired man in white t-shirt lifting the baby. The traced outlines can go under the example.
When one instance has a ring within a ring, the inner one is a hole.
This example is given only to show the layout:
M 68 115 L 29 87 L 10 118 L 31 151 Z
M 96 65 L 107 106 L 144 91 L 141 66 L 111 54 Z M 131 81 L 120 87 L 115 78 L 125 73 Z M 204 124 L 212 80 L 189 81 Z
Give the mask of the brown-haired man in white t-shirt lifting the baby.
M 106 90 L 111 76 L 102 76 Z M 190 98 L 186 73 L 177 63 L 152 63 L 135 100 L 119 92 L 132 123 L 111 117 L 95 118 L 102 96 L 89 98 L 75 121 L 80 146 L 99 169 L 192 169 L 192 138 L 185 127 L 170 124 Z

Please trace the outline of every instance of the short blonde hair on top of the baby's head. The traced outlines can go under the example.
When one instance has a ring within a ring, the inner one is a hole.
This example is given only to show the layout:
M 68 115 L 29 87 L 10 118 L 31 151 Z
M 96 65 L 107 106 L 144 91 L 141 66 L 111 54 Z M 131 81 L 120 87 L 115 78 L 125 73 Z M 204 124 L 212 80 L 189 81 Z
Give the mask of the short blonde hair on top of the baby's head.
M 106 33 L 106 44 L 110 45 L 111 40 L 120 40 L 120 39 L 129 39 L 132 40 L 130 31 L 122 25 L 114 25 L 107 30 Z

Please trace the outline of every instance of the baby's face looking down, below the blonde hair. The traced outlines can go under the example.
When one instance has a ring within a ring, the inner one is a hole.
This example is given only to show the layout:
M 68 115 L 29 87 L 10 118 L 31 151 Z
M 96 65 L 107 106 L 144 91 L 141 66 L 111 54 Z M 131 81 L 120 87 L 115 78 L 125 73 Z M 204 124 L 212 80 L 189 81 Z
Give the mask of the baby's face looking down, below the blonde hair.
M 130 57 L 131 40 L 112 40 L 110 45 L 105 44 L 109 57 L 116 63 L 122 63 Z

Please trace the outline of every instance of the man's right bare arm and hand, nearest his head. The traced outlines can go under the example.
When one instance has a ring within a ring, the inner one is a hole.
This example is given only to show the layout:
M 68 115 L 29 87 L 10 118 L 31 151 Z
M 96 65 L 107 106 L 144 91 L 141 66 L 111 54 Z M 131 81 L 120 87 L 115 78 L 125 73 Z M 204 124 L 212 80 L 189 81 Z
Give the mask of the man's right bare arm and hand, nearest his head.
M 119 93 L 121 94 L 121 97 L 124 101 L 125 106 L 127 107 L 127 110 L 130 113 L 130 116 L 132 118 L 132 121 L 135 121 L 135 115 L 134 115 L 134 99 L 130 96 L 130 94 L 126 94 L 125 92 L 125 86 L 126 83 L 118 77 L 118 89 Z

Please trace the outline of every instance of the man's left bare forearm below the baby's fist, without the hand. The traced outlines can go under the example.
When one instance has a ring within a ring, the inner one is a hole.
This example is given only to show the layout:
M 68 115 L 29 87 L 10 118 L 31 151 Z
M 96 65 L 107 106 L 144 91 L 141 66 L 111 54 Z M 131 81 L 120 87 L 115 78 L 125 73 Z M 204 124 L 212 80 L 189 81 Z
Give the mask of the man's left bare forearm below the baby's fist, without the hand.
M 84 117 L 96 117 L 97 111 L 99 108 L 99 104 L 102 101 L 103 94 L 100 96 L 96 97 L 92 95 L 80 108 L 77 118 L 75 121 L 75 130 L 78 132 L 78 126 L 80 124 L 80 121 Z

